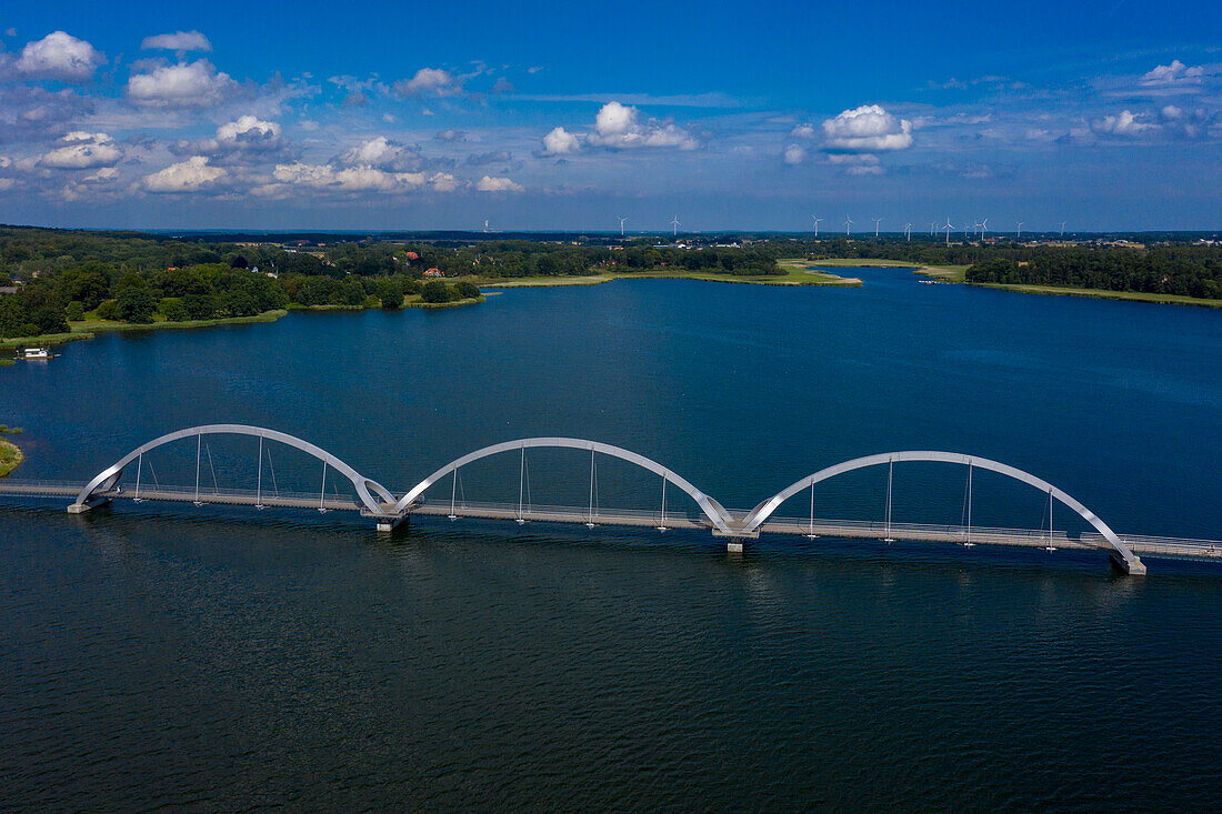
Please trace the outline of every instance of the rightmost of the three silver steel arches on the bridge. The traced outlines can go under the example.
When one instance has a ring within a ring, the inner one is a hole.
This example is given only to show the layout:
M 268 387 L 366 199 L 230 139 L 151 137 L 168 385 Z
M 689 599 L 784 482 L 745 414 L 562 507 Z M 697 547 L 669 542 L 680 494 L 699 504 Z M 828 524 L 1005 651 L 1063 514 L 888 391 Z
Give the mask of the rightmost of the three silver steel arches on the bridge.
M 854 458 L 852 461 L 844 461 L 843 463 L 837 463 L 836 466 L 827 467 L 826 469 L 820 469 L 813 475 L 808 475 L 797 483 L 782 489 L 777 494 L 772 495 L 759 506 L 753 508 L 747 517 L 743 518 L 741 532 L 750 533 L 758 529 L 764 521 L 766 521 L 777 507 L 783 504 L 789 497 L 794 496 L 803 489 L 819 483 L 820 480 L 827 480 L 829 478 L 835 478 L 836 475 L 844 474 L 846 472 L 852 472 L 854 469 L 864 469 L 866 467 L 874 467 L 884 463 L 902 462 L 902 461 L 929 461 L 936 463 L 959 463 L 962 466 L 980 467 L 981 469 L 989 469 L 990 472 L 996 472 L 998 474 L 1007 475 L 1014 480 L 1019 480 L 1030 486 L 1035 486 L 1040 491 L 1050 493 L 1053 497 L 1059 500 L 1062 504 L 1069 508 L 1078 512 L 1084 521 L 1095 527 L 1107 544 L 1116 550 L 1116 552 L 1123 557 L 1124 562 L 1135 568 L 1144 571 L 1141 566 L 1141 560 L 1138 559 L 1129 546 L 1121 541 L 1121 538 L 1116 535 L 1107 523 L 1099 519 L 1092 511 L 1083 506 L 1080 502 L 1074 500 L 1070 495 L 1057 489 L 1047 480 L 1042 478 L 1036 478 L 1029 472 L 1023 472 L 1015 467 L 1000 463 L 997 461 L 990 461 L 989 458 L 978 458 L 970 455 L 963 455 L 960 452 L 938 452 L 932 450 L 908 450 L 903 452 L 884 452 L 881 455 L 869 455 L 863 458 Z

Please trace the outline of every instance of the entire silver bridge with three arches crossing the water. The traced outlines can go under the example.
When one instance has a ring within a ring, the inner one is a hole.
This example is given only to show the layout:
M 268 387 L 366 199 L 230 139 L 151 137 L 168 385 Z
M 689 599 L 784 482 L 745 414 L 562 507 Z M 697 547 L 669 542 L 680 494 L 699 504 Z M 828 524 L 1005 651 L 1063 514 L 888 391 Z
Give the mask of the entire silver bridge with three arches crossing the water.
M 258 440 L 258 453 L 252 471 L 255 486 L 222 488 L 216 478 L 210 447 L 204 439 L 215 435 L 251 436 Z M 189 486 L 169 486 L 156 480 L 152 461 L 147 456 L 159 447 L 194 440 L 194 484 Z M 320 464 L 319 491 L 291 493 L 282 491 L 275 478 L 270 447 L 284 445 L 315 458 Z M 208 469 L 211 474 L 209 485 L 203 478 L 204 451 L 208 449 Z M 588 494 L 584 506 L 538 505 L 529 494 L 528 451 L 540 449 L 573 450 L 589 456 Z M 516 456 L 518 458 L 518 500 L 516 502 L 477 502 L 468 501 L 463 494 L 459 499 L 461 472 L 463 467 L 494 456 Z M 600 506 L 598 461 L 599 456 L 617 458 L 651 473 L 659 478 L 657 507 L 648 510 L 607 508 Z M 965 469 L 964 522 L 960 524 L 927 524 L 897 522 L 892 517 L 893 473 L 897 463 L 934 462 L 959 466 Z M 885 517 L 879 521 L 829 519 L 815 516 L 815 486 L 838 475 L 871 467 L 887 468 L 887 488 Z M 134 472 L 132 471 L 134 469 Z M 989 471 L 1039 490 L 1047 496 L 1047 528 L 1012 529 L 974 526 L 973 478 L 976 471 Z M 270 475 L 270 483 L 269 483 Z M 152 477 L 153 483 L 149 483 Z M 330 482 L 329 482 L 330 478 Z M 349 495 L 338 493 L 337 483 L 347 482 Z M 330 483 L 331 493 L 327 493 Z M 444 493 L 450 485 L 448 499 L 444 494 L 426 497 L 426 493 Z M 431 490 L 431 491 L 430 491 Z M 699 513 L 689 515 L 667 508 L 667 493 L 678 490 L 690 497 Z M 776 511 L 789 499 L 802 493 L 810 493 L 807 517 L 777 517 Z M 373 518 L 379 530 L 390 532 L 412 515 L 442 516 L 450 519 L 461 517 L 513 521 L 519 524 L 528 522 L 579 523 L 589 528 L 600 526 L 623 526 L 653 528 L 659 532 L 670 529 L 703 529 L 715 537 L 725 538 L 727 550 L 742 552 L 748 540 L 758 539 L 760 534 L 800 535 L 808 539 L 874 539 L 892 543 L 897 540 L 921 543 L 952 543 L 963 546 L 1006 545 L 1044 549 L 1099 550 L 1110 555 L 1111 561 L 1130 574 L 1144 574 L 1146 566 L 1140 555 L 1174 557 L 1190 560 L 1222 561 L 1222 543 L 1215 540 L 1191 540 L 1180 538 L 1155 538 L 1119 535 L 1094 512 L 1062 489 L 1028 472 L 989 458 L 942 452 L 932 450 L 897 451 L 854 458 L 843 463 L 820 469 L 789 484 L 771 497 L 758 504 L 749 511 L 731 511 L 715 499 L 698 489 L 677 472 L 629 450 L 574 438 L 527 438 L 494 444 L 469 452 L 436 469 L 428 478 L 396 497 L 396 493 L 382 486 L 348 466 L 330 452 L 287 433 L 280 433 L 262 427 L 244 424 L 208 424 L 191 427 L 169 433 L 143 444 L 119 461 L 100 471 L 87 483 L 0 480 L 0 495 L 27 497 L 72 497 L 68 512 L 82 513 L 97 506 L 115 501 L 132 500 L 186 502 L 196 506 L 205 504 L 251 506 L 257 510 L 270 507 L 313 508 L 320 512 L 354 511 L 360 516 Z M 1066 532 L 1057 532 L 1053 524 L 1055 506 L 1068 508 L 1088 523 L 1094 532 L 1070 538 Z

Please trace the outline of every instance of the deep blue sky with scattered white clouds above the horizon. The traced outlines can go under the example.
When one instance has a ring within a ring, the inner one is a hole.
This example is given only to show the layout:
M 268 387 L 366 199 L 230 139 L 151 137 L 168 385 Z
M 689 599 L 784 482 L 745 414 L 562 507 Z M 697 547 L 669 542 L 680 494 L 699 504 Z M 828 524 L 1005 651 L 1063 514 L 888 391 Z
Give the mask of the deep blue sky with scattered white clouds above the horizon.
M 1222 4 L 22 4 L 0 221 L 1222 227 Z

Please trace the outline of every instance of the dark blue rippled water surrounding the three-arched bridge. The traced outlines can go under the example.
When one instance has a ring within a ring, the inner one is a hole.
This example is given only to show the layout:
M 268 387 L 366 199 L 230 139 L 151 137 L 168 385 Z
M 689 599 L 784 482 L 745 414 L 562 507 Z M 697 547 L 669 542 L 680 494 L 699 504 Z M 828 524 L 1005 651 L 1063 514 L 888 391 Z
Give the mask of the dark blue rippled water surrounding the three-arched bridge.
M 398 491 L 485 444 L 576 435 L 733 507 L 948 449 L 1122 532 L 1222 537 L 1222 314 L 853 274 L 103 336 L 0 369 L 0 422 L 27 430 L 26 478 L 233 422 Z M 210 452 L 253 477 L 241 442 Z M 166 450 L 161 478 L 188 483 L 193 455 Z M 312 461 L 277 455 L 310 488 Z M 583 466 L 535 458 L 536 501 L 579 500 Z M 897 519 L 958 522 L 962 477 L 897 469 Z M 464 478 L 516 497 L 514 461 Z M 820 513 L 879 517 L 880 478 L 829 485 Z M 657 497 L 610 462 L 600 489 Z M 1046 523 L 1039 494 L 978 489 L 978 522 Z M 1207 809 L 1222 572 L 1149 565 L 800 538 L 737 560 L 676 532 L 423 519 L 386 539 L 341 513 L 10 500 L 0 805 Z

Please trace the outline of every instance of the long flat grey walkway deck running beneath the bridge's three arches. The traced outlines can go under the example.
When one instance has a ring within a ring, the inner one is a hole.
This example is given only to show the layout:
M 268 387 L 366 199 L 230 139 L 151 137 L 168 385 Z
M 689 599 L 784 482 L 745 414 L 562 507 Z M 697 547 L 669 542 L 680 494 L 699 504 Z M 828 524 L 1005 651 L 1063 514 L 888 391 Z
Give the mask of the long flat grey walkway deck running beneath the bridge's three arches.
M 51 480 L 0 480 L 0 495 L 27 497 L 71 497 L 75 499 L 84 484 Z M 230 506 L 277 506 L 286 508 L 324 508 L 326 511 L 358 511 L 370 516 L 360 504 L 351 497 L 326 496 L 297 493 L 258 493 L 253 489 L 204 489 L 159 486 L 138 490 L 111 490 L 95 493 L 99 497 L 111 500 L 149 500 L 188 504 L 219 504 Z M 392 507 L 385 506 L 387 513 Z M 595 526 L 622 526 L 637 528 L 697 529 L 712 530 L 712 524 L 703 515 L 690 516 L 683 512 L 666 512 L 665 522 L 660 511 L 634 511 L 626 508 L 598 508 L 590 511 L 580 506 L 541 506 L 494 502 L 456 502 L 422 501 L 408 507 L 408 513 L 456 518 L 503 519 L 546 523 L 594 523 Z M 733 512 L 742 517 L 744 512 Z M 393 515 L 390 515 L 395 517 Z M 788 534 L 837 539 L 874 539 L 881 540 L 888 534 L 888 527 L 879 521 L 846 521 L 815 518 L 774 517 L 760 529 L 765 534 Z M 937 526 L 929 523 L 891 523 L 890 537 L 895 540 L 918 543 L 971 543 L 979 545 L 1009 545 L 1023 548 L 1047 548 L 1047 530 L 1009 529 L 1009 528 L 973 528 L 962 526 Z M 1184 538 L 1145 537 L 1121 534 L 1135 554 L 1156 557 L 1174 557 L 1190 560 L 1222 561 L 1222 541 L 1193 540 Z M 1056 549 L 1106 550 L 1102 535 L 1084 533 L 1080 538 L 1069 538 L 1062 530 L 1053 532 L 1052 546 Z

